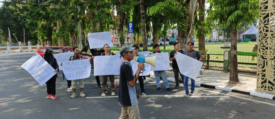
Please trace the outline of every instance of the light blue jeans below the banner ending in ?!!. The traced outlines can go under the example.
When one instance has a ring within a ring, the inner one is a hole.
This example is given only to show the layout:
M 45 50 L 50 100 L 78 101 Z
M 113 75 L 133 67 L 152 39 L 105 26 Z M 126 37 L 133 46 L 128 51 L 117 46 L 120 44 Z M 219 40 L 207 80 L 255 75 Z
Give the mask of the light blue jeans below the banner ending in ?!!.
M 165 71 L 154 71 L 156 86 L 160 87 L 160 76 L 164 82 L 165 88 L 169 88 L 168 80 Z

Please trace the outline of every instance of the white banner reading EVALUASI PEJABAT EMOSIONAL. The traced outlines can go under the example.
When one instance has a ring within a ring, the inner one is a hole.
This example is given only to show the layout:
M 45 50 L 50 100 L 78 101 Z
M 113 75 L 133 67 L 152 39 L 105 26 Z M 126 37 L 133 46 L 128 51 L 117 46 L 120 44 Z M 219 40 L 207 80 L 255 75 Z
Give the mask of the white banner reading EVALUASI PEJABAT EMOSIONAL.
M 94 76 L 119 75 L 120 65 L 119 55 L 95 56 Z

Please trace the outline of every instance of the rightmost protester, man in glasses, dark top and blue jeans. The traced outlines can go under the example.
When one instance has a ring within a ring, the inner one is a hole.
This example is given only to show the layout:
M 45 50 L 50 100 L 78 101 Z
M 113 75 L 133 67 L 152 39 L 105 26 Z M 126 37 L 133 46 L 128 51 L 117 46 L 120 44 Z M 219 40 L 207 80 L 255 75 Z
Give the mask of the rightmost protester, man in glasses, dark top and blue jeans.
M 184 51 L 183 54 L 189 56 L 189 57 L 192 57 L 194 59 L 197 59 L 199 61 L 202 61 L 202 59 L 204 59 L 204 56 L 200 57 L 200 53 L 196 50 L 193 49 L 194 47 L 194 42 L 188 42 L 187 43 L 187 48 L 188 48 L 188 51 Z M 184 87 L 185 87 L 185 95 L 184 96 L 188 96 L 189 95 L 189 90 L 188 90 L 188 78 L 187 76 L 184 76 Z M 191 93 L 190 95 L 194 95 L 194 91 L 195 91 L 195 80 L 194 79 L 191 79 Z

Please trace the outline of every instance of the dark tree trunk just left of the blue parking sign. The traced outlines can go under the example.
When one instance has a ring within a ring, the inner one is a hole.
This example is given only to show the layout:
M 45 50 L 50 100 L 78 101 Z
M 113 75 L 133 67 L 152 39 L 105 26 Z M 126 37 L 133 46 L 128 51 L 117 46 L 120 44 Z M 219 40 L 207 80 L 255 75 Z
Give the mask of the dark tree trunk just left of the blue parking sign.
M 119 0 L 119 42 L 120 42 L 120 46 L 122 46 L 122 44 L 124 44 L 124 31 L 123 31 L 123 27 L 124 27 L 124 23 L 125 23 L 125 12 L 122 11 L 122 5 L 123 5 L 123 0 Z M 133 39 L 131 39 L 133 40 Z

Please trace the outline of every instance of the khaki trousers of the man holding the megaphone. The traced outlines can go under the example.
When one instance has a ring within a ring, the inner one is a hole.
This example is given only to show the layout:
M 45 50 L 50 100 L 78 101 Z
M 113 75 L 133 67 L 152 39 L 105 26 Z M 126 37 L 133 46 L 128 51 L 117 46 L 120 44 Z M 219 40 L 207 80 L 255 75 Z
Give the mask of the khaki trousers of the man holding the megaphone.
M 119 119 L 140 119 L 138 104 L 130 107 L 122 107 Z

